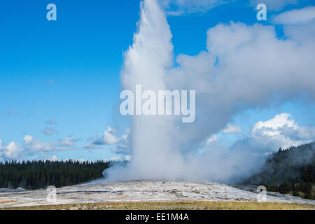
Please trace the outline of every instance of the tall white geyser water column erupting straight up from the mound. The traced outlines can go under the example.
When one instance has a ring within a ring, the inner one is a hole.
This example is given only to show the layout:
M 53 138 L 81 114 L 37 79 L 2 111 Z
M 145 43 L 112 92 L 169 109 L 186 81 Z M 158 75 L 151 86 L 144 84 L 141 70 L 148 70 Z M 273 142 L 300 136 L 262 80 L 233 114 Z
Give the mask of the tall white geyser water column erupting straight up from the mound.
M 173 65 L 172 34 L 165 13 L 156 0 L 141 2 L 141 18 L 133 44 L 125 52 L 121 74 L 123 89 L 135 93 L 165 90 L 167 68 Z M 176 132 L 172 116 L 133 116 L 131 130 L 132 161 L 125 179 L 176 179 L 183 162 L 172 136 Z

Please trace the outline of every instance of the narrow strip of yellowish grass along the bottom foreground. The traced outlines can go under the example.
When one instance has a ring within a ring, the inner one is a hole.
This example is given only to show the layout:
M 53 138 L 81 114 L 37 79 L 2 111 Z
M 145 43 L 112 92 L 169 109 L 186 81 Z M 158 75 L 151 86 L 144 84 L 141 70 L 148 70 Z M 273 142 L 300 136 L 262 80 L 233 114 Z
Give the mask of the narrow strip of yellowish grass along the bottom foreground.
M 111 202 L 94 204 L 58 204 L 8 210 L 315 210 L 315 204 L 258 202 Z

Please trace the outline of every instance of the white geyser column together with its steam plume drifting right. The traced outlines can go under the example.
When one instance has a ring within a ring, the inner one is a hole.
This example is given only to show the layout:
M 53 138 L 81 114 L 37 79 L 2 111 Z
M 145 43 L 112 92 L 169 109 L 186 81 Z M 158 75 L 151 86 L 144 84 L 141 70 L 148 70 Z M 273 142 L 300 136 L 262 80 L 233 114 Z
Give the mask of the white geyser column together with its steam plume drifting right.
M 307 28 L 315 21 L 290 24 L 284 25 L 286 39 L 277 38 L 272 26 L 216 25 L 207 31 L 207 51 L 179 55 L 174 66 L 165 13 L 156 0 L 142 1 L 139 30 L 125 52 L 123 89 L 134 91 L 141 84 L 143 91 L 196 90 L 196 120 L 134 116 L 132 160 L 109 169 L 107 178 L 232 182 L 258 169 L 266 151 L 257 145 L 207 146 L 207 139 L 244 109 L 301 94 L 314 101 L 315 38 L 304 31 L 314 31 Z

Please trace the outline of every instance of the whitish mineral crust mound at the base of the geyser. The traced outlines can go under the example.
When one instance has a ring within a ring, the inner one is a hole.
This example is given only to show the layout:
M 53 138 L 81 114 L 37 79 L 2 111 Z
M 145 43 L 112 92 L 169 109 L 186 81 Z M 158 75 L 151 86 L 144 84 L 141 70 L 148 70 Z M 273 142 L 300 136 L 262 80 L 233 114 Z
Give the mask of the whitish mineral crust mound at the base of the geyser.
M 244 189 L 244 190 L 243 190 Z M 175 201 L 242 201 L 256 202 L 254 188 L 205 182 L 187 181 L 126 181 L 106 183 L 94 181 L 76 186 L 57 188 L 55 204 L 82 204 L 97 202 L 175 202 Z M 53 204 L 47 202 L 48 192 L 42 190 L 0 189 L 0 208 Z M 267 193 L 267 202 L 309 203 L 300 197 Z

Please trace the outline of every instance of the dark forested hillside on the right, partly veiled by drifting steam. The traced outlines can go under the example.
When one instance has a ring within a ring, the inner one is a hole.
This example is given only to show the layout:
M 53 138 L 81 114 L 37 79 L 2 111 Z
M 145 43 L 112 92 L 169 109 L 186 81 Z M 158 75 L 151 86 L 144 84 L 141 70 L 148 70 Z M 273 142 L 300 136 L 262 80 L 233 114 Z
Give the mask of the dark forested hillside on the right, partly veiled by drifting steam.
M 241 184 L 266 186 L 268 191 L 290 193 L 314 200 L 315 142 L 268 155 L 265 165 Z

